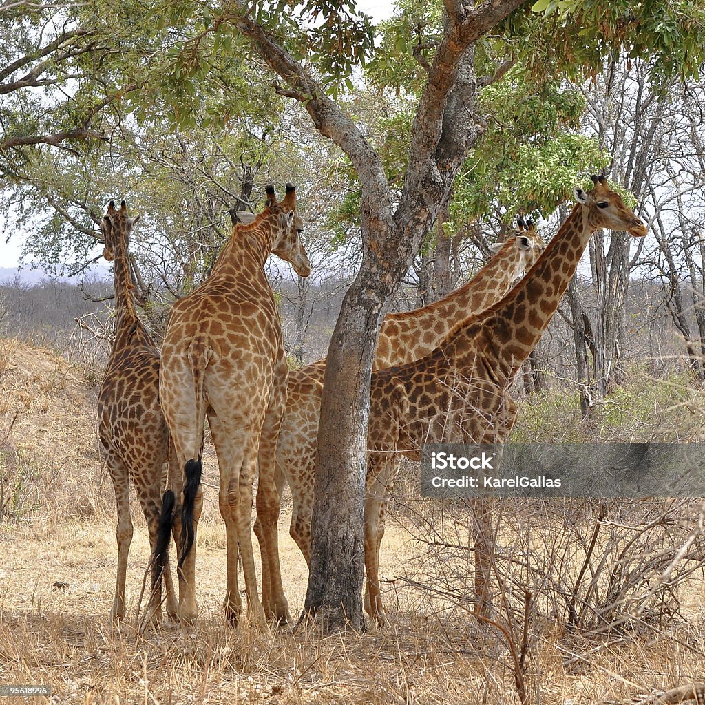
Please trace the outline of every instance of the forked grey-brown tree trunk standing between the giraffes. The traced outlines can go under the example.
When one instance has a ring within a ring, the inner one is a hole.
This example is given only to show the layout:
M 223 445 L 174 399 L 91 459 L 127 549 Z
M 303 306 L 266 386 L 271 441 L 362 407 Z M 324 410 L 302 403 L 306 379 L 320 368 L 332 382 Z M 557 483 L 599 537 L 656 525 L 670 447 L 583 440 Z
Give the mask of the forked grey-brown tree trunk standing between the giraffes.
M 467 150 L 484 128 L 474 120 L 477 80 L 473 44 L 520 0 L 477 6 L 448 4 L 446 28 L 428 69 L 412 127 L 403 189 L 391 206 L 384 165 L 350 117 L 326 96 L 276 39 L 249 13 L 229 18 L 250 37 L 267 65 L 286 80 L 276 90 L 304 106 L 322 135 L 348 154 L 360 180 L 363 255 L 343 300 L 324 377 L 318 434 L 312 551 L 302 619 L 325 632 L 362 629 L 363 502 L 367 474 L 369 382 L 379 326 L 391 293 L 405 275 Z M 235 2 L 242 9 L 243 5 Z M 500 71 L 496 75 L 503 75 Z M 493 80 L 489 77 L 487 84 Z

